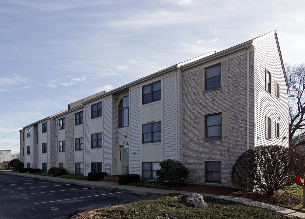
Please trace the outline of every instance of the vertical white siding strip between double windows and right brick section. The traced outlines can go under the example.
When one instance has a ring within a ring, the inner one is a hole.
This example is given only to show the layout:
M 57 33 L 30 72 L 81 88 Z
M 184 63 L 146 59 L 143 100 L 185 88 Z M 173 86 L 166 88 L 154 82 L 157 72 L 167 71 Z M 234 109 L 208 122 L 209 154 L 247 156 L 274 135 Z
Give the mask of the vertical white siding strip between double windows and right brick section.
M 176 90 L 175 75 L 163 80 L 163 159 L 176 159 Z

